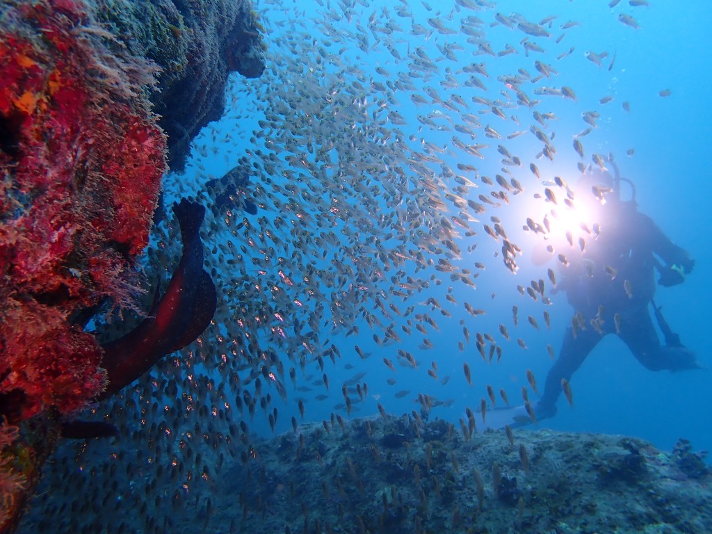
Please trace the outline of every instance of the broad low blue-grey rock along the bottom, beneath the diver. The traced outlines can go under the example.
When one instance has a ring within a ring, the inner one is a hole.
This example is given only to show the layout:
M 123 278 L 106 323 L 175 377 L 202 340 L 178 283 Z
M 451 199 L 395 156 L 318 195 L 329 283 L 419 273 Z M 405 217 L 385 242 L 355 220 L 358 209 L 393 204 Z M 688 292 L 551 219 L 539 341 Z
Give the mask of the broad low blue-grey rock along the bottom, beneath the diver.
M 466 439 L 442 420 L 387 416 L 298 426 L 253 449 L 226 462 L 221 491 L 202 499 L 209 531 L 678 534 L 712 524 L 709 474 L 687 472 L 679 448 L 626 436 Z

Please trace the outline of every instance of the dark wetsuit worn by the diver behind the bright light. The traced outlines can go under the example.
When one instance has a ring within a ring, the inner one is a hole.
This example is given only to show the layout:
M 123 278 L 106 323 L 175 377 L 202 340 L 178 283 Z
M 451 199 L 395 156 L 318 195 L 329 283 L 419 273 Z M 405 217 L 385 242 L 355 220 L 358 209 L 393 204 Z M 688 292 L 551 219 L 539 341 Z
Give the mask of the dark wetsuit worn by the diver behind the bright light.
M 549 371 L 544 394 L 536 406 L 543 417 L 555 413 L 562 391 L 594 347 L 608 334 L 617 334 L 636 359 L 652 371 L 697 367 L 682 345 L 661 345 L 649 313 L 655 293 L 655 256 L 668 266 L 689 273 L 694 262 L 632 202 L 604 206 L 600 234 L 586 240 L 583 253 L 567 256 L 558 289 L 564 290 L 575 310 L 566 329 L 559 356 Z M 575 246 L 577 244 L 574 244 Z M 680 276 L 680 281 L 682 281 Z

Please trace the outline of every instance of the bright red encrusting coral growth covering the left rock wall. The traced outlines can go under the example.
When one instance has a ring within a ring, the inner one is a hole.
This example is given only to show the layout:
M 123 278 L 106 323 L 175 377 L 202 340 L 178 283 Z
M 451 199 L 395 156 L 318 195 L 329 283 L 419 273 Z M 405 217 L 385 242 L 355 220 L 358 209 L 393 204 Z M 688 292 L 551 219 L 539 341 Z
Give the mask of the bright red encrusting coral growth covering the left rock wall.
M 155 73 L 74 0 L 0 14 L 0 414 L 70 413 L 105 386 L 83 321 L 129 305 L 165 138 Z

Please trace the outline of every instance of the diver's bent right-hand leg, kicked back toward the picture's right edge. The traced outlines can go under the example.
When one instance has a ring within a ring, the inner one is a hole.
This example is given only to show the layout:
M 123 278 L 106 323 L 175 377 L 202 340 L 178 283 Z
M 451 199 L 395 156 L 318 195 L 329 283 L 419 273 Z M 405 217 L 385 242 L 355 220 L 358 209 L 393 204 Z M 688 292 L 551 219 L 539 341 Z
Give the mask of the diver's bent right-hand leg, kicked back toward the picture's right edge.
M 619 337 L 646 369 L 651 371 L 681 371 L 698 369 L 694 353 L 686 347 L 661 346 L 658 333 L 647 308 L 638 310 L 623 320 Z

